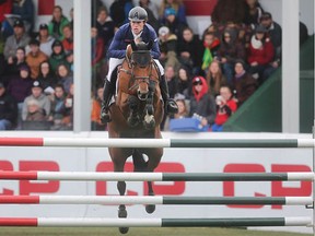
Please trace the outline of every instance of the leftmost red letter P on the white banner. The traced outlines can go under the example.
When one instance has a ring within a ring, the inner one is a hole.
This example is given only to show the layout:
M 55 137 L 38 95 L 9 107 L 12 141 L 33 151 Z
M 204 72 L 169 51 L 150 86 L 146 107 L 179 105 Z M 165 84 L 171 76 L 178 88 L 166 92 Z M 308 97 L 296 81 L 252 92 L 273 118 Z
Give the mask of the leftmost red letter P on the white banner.
M 56 162 L 43 161 L 21 161 L 20 170 L 49 170 L 59 172 L 59 165 Z M 20 194 L 31 194 L 33 192 L 57 192 L 59 190 L 59 181 L 20 181 Z

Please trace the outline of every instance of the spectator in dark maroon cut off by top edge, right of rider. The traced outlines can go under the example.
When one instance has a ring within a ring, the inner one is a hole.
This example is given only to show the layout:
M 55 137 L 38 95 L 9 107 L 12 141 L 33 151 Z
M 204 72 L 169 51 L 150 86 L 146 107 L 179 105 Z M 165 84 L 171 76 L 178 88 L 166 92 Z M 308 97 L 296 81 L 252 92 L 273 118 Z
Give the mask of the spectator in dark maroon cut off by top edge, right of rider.
M 244 17 L 244 0 L 218 0 L 211 14 L 211 21 L 219 25 L 224 25 L 228 22 L 242 23 Z

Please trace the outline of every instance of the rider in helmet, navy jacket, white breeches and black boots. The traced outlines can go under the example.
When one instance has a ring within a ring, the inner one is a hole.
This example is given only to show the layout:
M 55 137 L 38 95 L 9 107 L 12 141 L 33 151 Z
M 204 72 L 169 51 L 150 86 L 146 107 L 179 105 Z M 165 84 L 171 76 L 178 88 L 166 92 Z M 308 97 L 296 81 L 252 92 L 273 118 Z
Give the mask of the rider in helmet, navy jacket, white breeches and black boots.
M 148 13 L 141 7 L 135 7 L 129 11 L 129 23 L 126 23 L 120 26 L 120 28 L 115 34 L 113 42 L 108 48 L 109 56 L 109 68 L 107 73 L 107 79 L 105 79 L 104 83 L 104 93 L 103 93 L 103 103 L 102 103 L 102 113 L 101 120 L 103 122 L 110 122 L 110 116 L 108 114 L 109 102 L 114 94 L 113 85 L 110 84 L 112 73 L 116 69 L 118 64 L 121 64 L 124 58 L 126 56 L 127 45 L 135 40 L 136 44 L 141 40 L 144 43 L 153 42 L 153 47 L 151 50 L 151 56 L 156 62 L 161 79 L 160 79 L 160 87 L 162 98 L 165 104 L 165 109 L 167 114 L 176 114 L 178 111 L 177 104 L 175 101 L 170 98 L 167 82 L 164 78 L 164 68 L 159 61 L 160 57 L 160 48 L 158 44 L 158 36 L 154 28 L 147 24 Z M 113 83 L 113 82 L 112 82 Z

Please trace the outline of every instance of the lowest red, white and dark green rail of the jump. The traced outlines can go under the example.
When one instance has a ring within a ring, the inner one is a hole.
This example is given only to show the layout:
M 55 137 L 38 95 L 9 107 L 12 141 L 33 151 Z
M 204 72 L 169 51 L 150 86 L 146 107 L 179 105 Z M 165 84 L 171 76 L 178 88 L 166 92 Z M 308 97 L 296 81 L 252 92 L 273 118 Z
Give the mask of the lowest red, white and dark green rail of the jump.
M 235 227 L 235 226 L 310 226 L 311 217 L 231 217 L 231 219 L 75 219 L 2 217 L 0 226 L 33 227 Z

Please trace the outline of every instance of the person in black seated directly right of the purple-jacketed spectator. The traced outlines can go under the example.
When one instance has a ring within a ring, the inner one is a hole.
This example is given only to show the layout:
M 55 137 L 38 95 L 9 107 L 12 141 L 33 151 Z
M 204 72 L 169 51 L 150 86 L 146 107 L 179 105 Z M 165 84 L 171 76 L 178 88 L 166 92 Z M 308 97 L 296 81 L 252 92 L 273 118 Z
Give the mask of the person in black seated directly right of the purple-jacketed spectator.
M 39 64 L 39 75 L 37 78 L 38 82 L 40 83 L 44 93 L 46 95 L 54 94 L 54 87 L 57 84 L 57 78 L 50 69 L 50 64 L 48 61 L 43 61 Z

